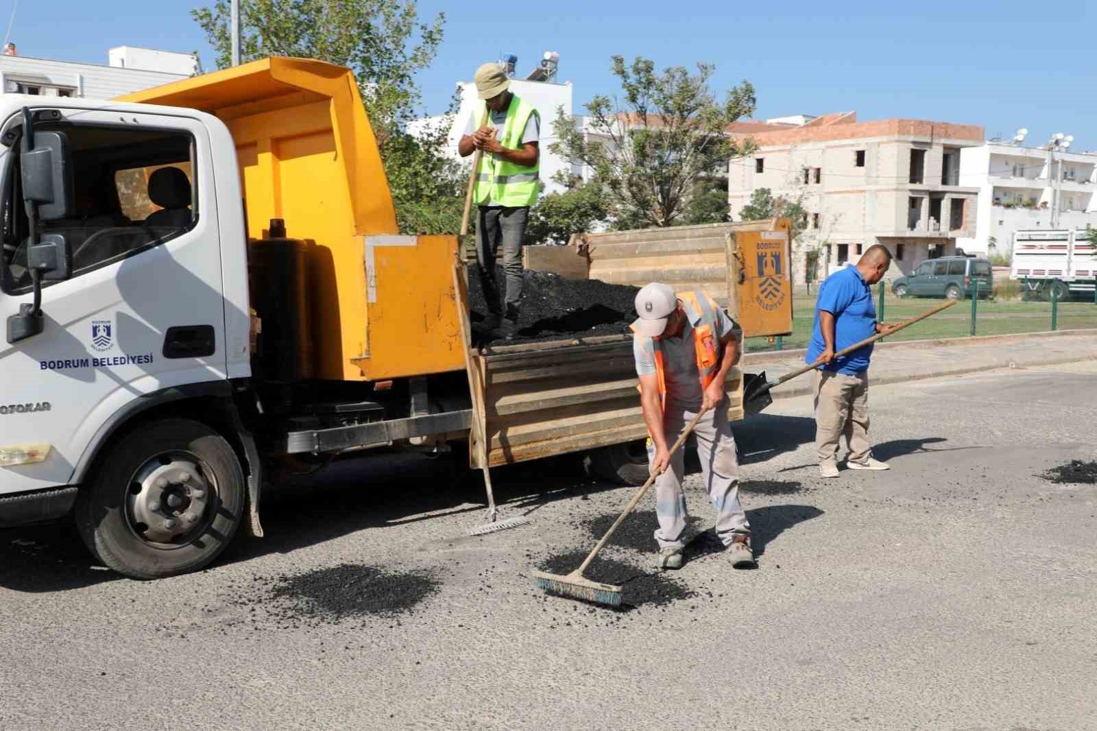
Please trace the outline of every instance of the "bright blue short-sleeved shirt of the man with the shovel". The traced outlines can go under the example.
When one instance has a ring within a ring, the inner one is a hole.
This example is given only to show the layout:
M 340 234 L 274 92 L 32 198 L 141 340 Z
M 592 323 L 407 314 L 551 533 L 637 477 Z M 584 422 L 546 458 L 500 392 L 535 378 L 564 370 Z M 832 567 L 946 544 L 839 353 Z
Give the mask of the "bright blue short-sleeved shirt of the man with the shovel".
M 819 310 L 826 310 L 834 315 L 835 352 L 877 334 L 877 306 L 872 302 L 872 290 L 857 267 L 839 269 L 826 278 L 815 299 L 815 326 L 804 358 L 805 363 L 814 363 L 826 350 L 823 331 L 819 329 Z M 829 366 L 824 366 L 821 370 L 857 375 L 868 370 L 871 355 L 872 344 L 869 344 L 848 356 L 835 358 Z

